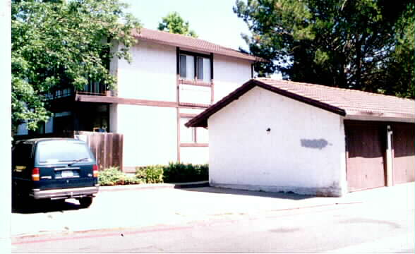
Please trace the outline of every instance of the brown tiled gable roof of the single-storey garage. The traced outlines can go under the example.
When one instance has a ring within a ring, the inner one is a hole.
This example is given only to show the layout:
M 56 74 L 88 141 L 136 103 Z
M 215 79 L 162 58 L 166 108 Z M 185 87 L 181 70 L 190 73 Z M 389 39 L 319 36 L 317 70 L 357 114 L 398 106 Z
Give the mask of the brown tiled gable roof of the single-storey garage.
M 249 80 L 234 92 L 195 116 L 186 123 L 186 126 L 208 127 L 208 118 L 212 114 L 226 107 L 227 104 L 238 99 L 255 86 L 346 116 L 347 119 L 376 119 L 378 121 L 395 119 L 395 121 L 409 122 L 415 120 L 415 100 L 413 99 L 402 99 L 395 96 L 327 87 L 325 85 L 256 78 Z

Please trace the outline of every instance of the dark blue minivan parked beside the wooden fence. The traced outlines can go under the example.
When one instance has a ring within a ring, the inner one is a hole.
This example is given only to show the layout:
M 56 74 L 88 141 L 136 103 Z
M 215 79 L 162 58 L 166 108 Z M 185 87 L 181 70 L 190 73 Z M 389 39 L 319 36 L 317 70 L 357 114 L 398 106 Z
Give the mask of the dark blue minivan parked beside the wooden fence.
M 13 196 L 76 198 L 89 207 L 98 192 L 98 167 L 88 145 L 72 138 L 20 140 L 12 149 Z

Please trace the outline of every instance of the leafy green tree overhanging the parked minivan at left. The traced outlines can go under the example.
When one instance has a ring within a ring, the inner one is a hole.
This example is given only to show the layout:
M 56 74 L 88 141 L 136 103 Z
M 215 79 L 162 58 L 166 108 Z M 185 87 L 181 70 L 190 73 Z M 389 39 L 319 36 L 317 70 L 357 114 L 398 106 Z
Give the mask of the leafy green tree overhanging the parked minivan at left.
M 88 80 L 114 87 L 113 56 L 130 61 L 139 23 L 118 0 L 13 0 L 12 126 L 37 124 L 50 116 L 44 93 L 60 87 L 82 90 Z M 119 50 L 110 50 L 115 43 Z

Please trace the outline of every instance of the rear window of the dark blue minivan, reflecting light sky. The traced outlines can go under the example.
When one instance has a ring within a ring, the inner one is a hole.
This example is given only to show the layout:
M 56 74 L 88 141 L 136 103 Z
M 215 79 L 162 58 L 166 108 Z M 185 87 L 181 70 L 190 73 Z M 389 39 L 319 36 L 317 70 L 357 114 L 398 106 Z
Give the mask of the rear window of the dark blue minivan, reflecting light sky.
M 57 162 L 92 162 L 88 147 L 84 143 L 53 140 L 37 144 L 37 161 L 40 164 L 51 164 Z

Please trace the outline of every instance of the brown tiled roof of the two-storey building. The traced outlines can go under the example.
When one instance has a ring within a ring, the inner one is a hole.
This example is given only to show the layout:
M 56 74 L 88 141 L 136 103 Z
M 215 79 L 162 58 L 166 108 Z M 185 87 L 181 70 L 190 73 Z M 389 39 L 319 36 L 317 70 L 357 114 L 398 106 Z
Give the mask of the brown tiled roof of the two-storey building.
M 222 54 L 224 56 L 233 56 L 239 59 L 246 59 L 250 61 L 261 61 L 261 59 L 255 56 L 251 56 L 250 54 L 244 54 L 234 49 L 229 49 L 218 44 L 214 44 L 211 42 L 207 42 L 205 40 L 200 40 L 186 35 L 177 35 L 170 32 L 150 30 L 147 28 L 134 30 L 133 35 L 138 40 L 145 40 L 159 44 L 167 44 L 175 47 L 183 47 L 186 49 L 193 49 L 201 52 Z

